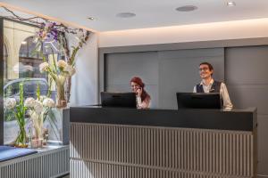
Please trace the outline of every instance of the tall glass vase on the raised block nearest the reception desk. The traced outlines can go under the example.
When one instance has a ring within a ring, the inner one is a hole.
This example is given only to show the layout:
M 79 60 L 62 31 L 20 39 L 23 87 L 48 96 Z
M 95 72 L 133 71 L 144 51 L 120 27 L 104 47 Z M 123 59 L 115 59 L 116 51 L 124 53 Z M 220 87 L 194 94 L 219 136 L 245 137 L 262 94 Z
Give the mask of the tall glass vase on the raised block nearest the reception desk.
M 65 81 L 66 77 L 59 76 L 56 80 L 57 87 L 57 99 L 56 99 L 56 107 L 58 109 L 66 108 L 67 101 L 65 99 Z

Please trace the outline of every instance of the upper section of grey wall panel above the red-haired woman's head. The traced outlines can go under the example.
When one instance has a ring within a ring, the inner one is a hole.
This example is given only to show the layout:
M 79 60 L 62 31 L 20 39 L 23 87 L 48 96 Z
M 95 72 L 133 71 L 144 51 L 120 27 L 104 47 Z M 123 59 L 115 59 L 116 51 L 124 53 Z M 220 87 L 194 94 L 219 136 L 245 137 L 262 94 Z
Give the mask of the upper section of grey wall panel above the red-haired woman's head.
M 157 85 L 157 53 L 112 53 L 105 59 L 107 85 L 129 85 L 130 78 L 139 76 L 148 85 Z

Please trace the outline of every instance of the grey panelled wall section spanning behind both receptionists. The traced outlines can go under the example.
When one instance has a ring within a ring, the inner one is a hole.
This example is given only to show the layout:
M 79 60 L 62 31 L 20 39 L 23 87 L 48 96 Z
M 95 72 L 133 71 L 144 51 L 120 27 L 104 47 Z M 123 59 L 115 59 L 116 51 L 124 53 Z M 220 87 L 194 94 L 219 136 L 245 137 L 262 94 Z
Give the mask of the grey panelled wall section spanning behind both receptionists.
M 105 91 L 130 92 L 130 78 L 144 79 L 152 108 L 176 109 L 176 92 L 192 92 L 200 82 L 198 64 L 214 65 L 214 77 L 224 80 L 223 48 L 145 53 L 111 53 L 105 57 Z

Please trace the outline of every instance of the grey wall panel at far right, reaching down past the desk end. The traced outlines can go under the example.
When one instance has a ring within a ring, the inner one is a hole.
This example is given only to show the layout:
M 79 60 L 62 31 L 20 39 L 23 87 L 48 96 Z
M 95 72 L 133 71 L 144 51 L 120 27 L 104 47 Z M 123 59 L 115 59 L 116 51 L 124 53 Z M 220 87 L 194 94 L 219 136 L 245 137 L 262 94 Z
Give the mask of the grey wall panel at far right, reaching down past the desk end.
M 258 174 L 268 174 L 268 46 L 226 48 L 225 76 L 236 108 L 258 111 Z

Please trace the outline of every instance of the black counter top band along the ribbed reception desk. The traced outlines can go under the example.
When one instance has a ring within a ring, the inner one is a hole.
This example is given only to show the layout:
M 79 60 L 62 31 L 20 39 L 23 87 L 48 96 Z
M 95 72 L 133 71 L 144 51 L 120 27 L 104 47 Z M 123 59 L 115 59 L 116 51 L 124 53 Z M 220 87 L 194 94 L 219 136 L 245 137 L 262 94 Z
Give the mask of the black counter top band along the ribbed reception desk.
M 127 109 L 80 106 L 70 108 L 71 122 L 150 125 L 253 131 L 256 109 Z

